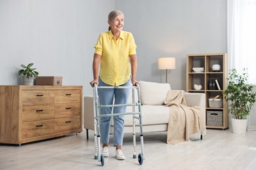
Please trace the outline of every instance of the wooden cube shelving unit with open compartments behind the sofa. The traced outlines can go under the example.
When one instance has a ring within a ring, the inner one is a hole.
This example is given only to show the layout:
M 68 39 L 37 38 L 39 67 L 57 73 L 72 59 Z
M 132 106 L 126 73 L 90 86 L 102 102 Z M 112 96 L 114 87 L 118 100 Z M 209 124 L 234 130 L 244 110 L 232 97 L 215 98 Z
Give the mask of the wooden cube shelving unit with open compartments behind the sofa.
M 206 124 L 206 127 L 215 129 L 228 128 L 228 103 L 224 100 L 223 95 L 223 90 L 226 89 L 227 86 L 227 55 L 225 53 L 187 54 L 186 57 L 186 92 L 205 93 L 205 118 L 207 118 L 207 111 L 209 112 L 215 110 L 216 112 L 221 112 L 222 114 L 222 126 L 212 126 L 211 124 Z M 220 65 L 219 71 L 213 71 L 212 69 L 212 66 L 216 64 Z M 192 68 L 194 67 L 203 67 L 204 72 L 192 72 Z M 218 90 L 216 79 L 218 80 L 221 90 Z M 214 83 L 214 86 L 209 86 L 209 83 Z M 194 84 L 202 85 L 202 90 L 195 90 Z M 209 98 L 213 98 L 216 95 L 223 95 L 222 108 L 209 107 Z

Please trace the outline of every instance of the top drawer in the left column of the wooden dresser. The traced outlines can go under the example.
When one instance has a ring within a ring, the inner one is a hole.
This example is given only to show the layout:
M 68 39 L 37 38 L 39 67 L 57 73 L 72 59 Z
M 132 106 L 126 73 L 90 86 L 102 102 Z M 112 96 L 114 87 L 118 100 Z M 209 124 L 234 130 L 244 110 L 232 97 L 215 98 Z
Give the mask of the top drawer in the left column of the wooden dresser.
M 54 103 L 54 93 L 51 90 L 23 90 L 22 105 L 51 105 Z

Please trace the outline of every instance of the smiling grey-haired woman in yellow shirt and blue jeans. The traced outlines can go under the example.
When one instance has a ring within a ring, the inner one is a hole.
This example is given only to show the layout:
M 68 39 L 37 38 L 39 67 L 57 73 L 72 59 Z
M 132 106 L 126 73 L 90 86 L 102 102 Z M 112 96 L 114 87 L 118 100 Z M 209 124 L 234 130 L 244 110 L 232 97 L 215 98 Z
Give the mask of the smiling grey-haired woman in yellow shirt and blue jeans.
M 108 15 L 108 31 L 100 33 L 95 45 L 93 58 L 93 80 L 91 86 L 135 86 L 137 83 L 137 54 L 133 35 L 123 31 L 123 12 L 113 10 Z M 99 68 L 100 65 L 100 68 Z M 98 89 L 101 105 L 126 104 L 129 97 L 129 88 Z M 115 99 L 115 100 L 114 100 Z M 125 112 L 126 107 L 102 108 L 100 114 L 115 114 Z M 116 146 L 117 160 L 125 160 L 121 150 L 123 145 L 123 115 L 114 118 L 114 146 Z M 100 137 L 102 154 L 109 156 L 108 143 L 110 139 L 111 116 L 100 119 Z

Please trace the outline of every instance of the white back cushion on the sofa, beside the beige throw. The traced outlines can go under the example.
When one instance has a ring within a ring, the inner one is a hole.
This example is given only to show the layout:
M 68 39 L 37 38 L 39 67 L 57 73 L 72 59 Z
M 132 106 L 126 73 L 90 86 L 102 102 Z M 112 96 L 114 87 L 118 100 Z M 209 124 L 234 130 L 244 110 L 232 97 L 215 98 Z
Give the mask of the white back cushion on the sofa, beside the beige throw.
M 163 101 L 171 86 L 168 83 L 140 81 L 142 105 L 163 105 Z

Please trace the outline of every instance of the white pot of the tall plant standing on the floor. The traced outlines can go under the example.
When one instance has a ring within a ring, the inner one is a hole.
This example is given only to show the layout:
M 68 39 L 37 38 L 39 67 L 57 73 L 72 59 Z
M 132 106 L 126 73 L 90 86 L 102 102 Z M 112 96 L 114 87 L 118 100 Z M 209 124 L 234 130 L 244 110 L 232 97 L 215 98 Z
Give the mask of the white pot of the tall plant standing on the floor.
M 247 128 L 247 119 L 231 119 L 233 133 L 244 134 Z

